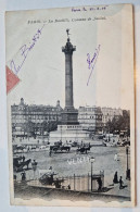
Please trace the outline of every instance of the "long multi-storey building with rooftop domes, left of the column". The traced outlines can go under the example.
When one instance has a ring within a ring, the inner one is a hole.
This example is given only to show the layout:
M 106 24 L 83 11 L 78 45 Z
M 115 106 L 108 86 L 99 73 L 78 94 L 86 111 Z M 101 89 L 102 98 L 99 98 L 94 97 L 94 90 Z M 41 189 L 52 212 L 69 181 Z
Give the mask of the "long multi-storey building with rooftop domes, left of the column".
M 43 135 L 49 127 L 56 127 L 61 122 L 62 108 L 60 101 L 56 107 L 52 105 L 28 105 L 21 99 L 20 104 L 11 105 L 12 135 L 36 136 Z

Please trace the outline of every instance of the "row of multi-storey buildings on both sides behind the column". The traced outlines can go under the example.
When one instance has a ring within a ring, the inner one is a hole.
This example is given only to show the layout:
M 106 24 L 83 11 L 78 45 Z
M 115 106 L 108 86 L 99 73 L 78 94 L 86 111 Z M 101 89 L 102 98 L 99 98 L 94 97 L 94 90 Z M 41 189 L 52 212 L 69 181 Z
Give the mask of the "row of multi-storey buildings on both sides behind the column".
M 11 105 L 12 135 L 25 135 L 28 130 L 44 134 L 48 125 L 56 127 L 61 123 L 63 112 L 60 101 L 56 105 L 28 105 L 21 99 L 20 104 Z M 109 121 L 123 115 L 122 109 L 79 107 L 78 122 L 85 130 L 102 132 Z M 31 129 L 33 128 L 33 129 Z

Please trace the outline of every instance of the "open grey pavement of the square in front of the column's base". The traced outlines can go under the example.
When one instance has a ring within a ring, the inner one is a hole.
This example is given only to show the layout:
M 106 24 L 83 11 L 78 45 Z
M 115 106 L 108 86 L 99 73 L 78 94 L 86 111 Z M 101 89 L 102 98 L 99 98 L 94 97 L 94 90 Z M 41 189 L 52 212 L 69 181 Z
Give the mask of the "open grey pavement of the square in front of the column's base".
M 114 155 L 117 154 L 117 161 L 114 160 Z M 20 155 L 20 154 L 18 154 Z M 126 179 L 127 170 L 127 154 L 126 147 L 92 147 L 90 151 L 86 153 L 76 153 L 76 148 L 72 147 L 69 152 L 52 153 L 49 154 L 49 148 L 44 151 L 35 151 L 28 153 L 21 153 L 27 160 L 36 160 L 37 170 L 34 172 L 31 163 L 29 170 L 26 172 L 26 179 L 39 182 L 39 171 L 49 170 L 52 166 L 52 171 L 58 173 L 56 177 L 71 177 L 75 175 L 88 175 L 91 176 L 91 162 L 90 158 L 94 158 L 92 164 L 92 175 L 100 174 L 104 171 L 104 187 L 109 188 L 105 194 L 123 196 L 130 198 L 130 180 Z M 130 159 L 128 158 L 128 165 Z M 124 185 L 126 187 L 120 190 L 119 184 L 113 185 L 114 174 L 117 172 L 118 179 L 122 176 Z M 21 172 L 15 173 L 17 182 L 22 180 Z M 93 184 L 94 186 L 94 184 Z M 111 188 L 111 189 L 110 189 Z

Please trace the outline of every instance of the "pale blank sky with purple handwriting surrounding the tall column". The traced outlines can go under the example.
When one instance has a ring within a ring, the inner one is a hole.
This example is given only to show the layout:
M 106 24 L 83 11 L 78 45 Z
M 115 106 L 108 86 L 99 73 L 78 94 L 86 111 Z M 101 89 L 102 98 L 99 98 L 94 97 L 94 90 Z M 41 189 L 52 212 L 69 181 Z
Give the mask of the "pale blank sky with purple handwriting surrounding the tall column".
M 24 98 L 27 104 L 55 105 L 60 100 L 64 108 L 62 47 L 67 39 L 66 28 L 69 28 L 71 42 L 76 46 L 73 53 L 75 108 L 100 105 L 130 110 L 133 102 L 130 5 L 8 12 L 7 65 L 14 73 L 18 67 L 16 74 L 21 79 L 8 95 L 9 103 L 18 103 Z M 29 50 L 23 53 L 24 48 Z M 90 61 L 94 57 L 90 66 L 88 55 Z

